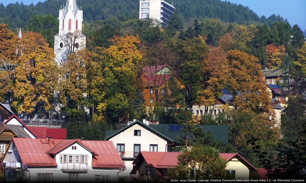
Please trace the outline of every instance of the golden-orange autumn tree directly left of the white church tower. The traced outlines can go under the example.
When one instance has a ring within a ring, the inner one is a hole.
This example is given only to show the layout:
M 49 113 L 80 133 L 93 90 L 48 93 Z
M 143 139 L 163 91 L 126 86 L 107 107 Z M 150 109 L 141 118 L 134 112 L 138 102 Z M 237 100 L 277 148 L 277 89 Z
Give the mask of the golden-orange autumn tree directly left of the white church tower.
M 43 36 L 24 33 L 19 47 L 22 54 L 17 59 L 15 69 L 15 89 L 13 108 L 18 112 L 31 113 L 37 103 L 50 109 L 49 100 L 54 98 L 54 90 L 58 82 L 58 66 L 54 61 L 53 50 L 48 47 Z

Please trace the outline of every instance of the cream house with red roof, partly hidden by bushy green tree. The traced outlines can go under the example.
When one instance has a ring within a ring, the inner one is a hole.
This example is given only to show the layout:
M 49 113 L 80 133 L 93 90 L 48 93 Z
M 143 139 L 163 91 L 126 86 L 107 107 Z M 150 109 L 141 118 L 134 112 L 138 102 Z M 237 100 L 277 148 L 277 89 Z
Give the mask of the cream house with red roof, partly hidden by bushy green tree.
M 177 156 L 180 154 L 181 152 L 141 151 L 133 162 L 130 176 L 140 182 L 170 181 L 167 169 L 177 166 Z M 233 179 L 249 179 L 250 171 L 256 171 L 256 168 L 238 153 L 219 153 L 219 157 L 226 159 L 226 171 Z

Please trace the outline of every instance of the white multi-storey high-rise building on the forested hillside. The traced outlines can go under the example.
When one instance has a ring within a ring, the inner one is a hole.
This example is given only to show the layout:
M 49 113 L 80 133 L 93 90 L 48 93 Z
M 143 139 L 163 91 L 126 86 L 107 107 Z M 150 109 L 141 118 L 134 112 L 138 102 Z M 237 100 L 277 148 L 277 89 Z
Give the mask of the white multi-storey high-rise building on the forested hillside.
M 174 13 L 174 6 L 164 0 L 140 0 L 139 19 L 155 19 L 160 24 L 166 25 L 170 20 L 169 17 Z

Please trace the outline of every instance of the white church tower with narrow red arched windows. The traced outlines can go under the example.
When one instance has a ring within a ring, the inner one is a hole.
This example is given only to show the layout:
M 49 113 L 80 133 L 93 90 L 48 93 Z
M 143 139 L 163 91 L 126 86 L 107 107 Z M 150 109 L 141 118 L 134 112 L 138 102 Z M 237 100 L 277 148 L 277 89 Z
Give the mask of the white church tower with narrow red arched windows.
M 86 36 L 82 34 L 82 6 L 76 0 L 67 0 L 58 14 L 59 29 L 54 37 L 54 54 L 56 62 L 62 65 L 70 53 L 85 48 Z

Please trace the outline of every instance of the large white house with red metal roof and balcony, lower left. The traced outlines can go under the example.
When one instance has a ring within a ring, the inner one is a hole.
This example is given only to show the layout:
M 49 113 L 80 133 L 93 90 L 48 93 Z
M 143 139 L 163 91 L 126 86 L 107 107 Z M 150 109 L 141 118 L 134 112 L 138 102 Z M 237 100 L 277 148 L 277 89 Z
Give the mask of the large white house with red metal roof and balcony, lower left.
M 125 165 L 111 141 L 13 138 L 2 159 L 6 181 L 117 182 Z

